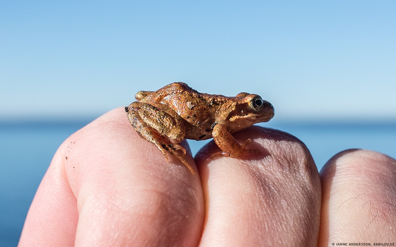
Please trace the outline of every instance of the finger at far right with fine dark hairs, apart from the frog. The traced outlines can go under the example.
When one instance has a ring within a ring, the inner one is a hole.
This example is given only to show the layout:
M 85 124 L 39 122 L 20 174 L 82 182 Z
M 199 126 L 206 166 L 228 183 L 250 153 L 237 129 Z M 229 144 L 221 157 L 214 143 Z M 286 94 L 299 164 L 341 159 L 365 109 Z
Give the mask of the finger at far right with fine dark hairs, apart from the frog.
M 346 150 L 322 169 L 319 246 L 395 242 L 396 161 L 367 150 Z

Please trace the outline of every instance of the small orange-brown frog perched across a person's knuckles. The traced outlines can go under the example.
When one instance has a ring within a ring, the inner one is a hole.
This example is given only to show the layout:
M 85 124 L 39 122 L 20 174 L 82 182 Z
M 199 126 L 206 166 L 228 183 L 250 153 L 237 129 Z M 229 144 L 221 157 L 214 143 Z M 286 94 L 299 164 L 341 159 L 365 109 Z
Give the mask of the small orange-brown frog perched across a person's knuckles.
M 238 93 L 235 97 L 200 93 L 184 82 L 173 82 L 156 91 L 139 91 L 136 101 L 125 107 L 129 122 L 165 156 L 176 157 L 192 174 L 194 168 L 186 159 L 184 139 L 213 138 L 220 152 L 216 156 L 241 157 L 260 153 L 248 149 L 251 139 L 240 144 L 232 133 L 267 122 L 274 117 L 272 104 L 257 94 Z

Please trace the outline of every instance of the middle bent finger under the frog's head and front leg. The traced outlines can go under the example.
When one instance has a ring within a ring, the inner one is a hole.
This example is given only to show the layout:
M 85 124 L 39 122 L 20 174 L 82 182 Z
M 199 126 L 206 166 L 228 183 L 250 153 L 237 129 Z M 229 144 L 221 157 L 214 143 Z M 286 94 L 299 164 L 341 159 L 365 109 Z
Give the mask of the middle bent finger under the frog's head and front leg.
M 251 127 L 235 134 L 261 154 L 210 160 L 213 143 L 197 165 L 206 202 L 201 246 L 316 246 L 320 215 L 319 174 L 295 137 Z

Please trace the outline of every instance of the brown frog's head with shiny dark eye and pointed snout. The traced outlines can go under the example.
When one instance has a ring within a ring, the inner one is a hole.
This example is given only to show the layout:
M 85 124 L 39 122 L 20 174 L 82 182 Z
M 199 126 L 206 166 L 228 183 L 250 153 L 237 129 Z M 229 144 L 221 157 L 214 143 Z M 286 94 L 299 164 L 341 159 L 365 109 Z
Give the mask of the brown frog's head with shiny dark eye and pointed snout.
M 271 103 L 260 95 L 239 93 L 235 110 L 229 115 L 234 129 L 244 129 L 253 124 L 268 122 L 274 117 L 275 110 Z

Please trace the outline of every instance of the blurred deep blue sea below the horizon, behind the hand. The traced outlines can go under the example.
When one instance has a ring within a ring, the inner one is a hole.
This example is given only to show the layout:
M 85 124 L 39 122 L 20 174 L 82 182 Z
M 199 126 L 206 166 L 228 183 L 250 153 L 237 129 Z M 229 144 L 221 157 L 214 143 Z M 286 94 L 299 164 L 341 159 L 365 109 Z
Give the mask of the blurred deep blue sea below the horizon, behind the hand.
M 59 145 L 92 119 L 0 121 L 0 246 L 17 246 L 26 214 Z M 396 158 L 396 121 L 276 121 L 259 124 L 289 132 L 310 150 L 318 170 L 349 148 Z M 204 141 L 189 141 L 196 154 Z

